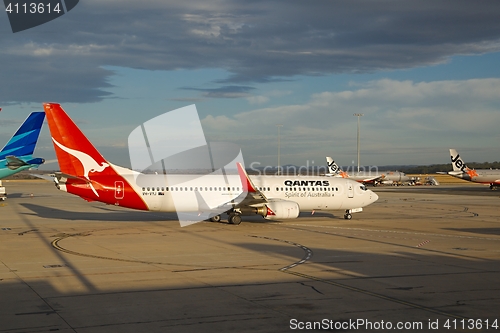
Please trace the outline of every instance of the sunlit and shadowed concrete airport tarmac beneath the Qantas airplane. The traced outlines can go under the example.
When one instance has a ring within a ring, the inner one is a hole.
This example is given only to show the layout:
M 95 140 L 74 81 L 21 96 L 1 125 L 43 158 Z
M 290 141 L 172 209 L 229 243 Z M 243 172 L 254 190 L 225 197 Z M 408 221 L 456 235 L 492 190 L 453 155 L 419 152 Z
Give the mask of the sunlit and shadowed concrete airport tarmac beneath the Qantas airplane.
M 487 187 L 375 188 L 350 221 L 181 228 L 49 182 L 4 185 L 0 332 L 499 330 L 500 191 Z

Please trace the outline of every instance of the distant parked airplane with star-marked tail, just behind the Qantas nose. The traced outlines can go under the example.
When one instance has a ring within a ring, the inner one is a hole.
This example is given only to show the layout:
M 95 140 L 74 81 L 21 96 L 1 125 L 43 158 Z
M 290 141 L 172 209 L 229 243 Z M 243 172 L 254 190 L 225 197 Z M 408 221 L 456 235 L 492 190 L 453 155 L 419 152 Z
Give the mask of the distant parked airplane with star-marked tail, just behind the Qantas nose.
M 366 172 L 359 172 L 350 175 L 347 172 L 342 171 L 342 169 L 330 156 L 326 157 L 326 164 L 328 165 L 329 173 L 325 174 L 325 176 L 350 178 L 363 184 L 373 183 L 373 185 L 376 186 L 378 184 L 401 184 L 410 181 L 410 177 L 400 171 L 387 171 L 385 173 L 372 173 L 370 171 L 368 172 L 368 175 Z

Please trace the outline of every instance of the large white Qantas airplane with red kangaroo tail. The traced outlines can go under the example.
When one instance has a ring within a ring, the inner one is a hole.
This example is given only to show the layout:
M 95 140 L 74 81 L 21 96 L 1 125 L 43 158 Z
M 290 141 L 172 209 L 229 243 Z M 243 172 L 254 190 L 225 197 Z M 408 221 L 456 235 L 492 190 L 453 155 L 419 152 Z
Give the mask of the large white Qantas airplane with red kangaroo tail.
M 213 222 L 227 214 L 230 224 L 240 224 L 242 215 L 283 220 L 297 218 L 301 211 L 337 209 L 345 210 L 344 218 L 349 220 L 352 213 L 378 199 L 349 179 L 249 176 L 239 163 L 237 173 L 223 178 L 141 173 L 107 161 L 60 104 L 44 103 L 44 110 L 61 169 L 54 178 L 56 187 L 87 201 L 178 216 L 198 213 Z

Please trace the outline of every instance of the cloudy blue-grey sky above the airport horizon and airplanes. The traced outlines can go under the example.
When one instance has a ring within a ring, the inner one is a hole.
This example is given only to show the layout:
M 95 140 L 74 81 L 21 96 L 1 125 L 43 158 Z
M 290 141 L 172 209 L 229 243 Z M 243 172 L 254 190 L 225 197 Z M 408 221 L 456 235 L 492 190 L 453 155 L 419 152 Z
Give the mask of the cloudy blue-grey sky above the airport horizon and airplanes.
M 352 165 L 354 113 L 361 164 L 500 159 L 496 0 L 81 0 L 15 34 L 0 14 L 0 45 L 0 144 L 60 102 L 130 166 L 135 127 L 196 104 L 247 165 L 276 165 L 277 124 L 282 164 Z M 55 156 L 47 128 L 36 155 Z

